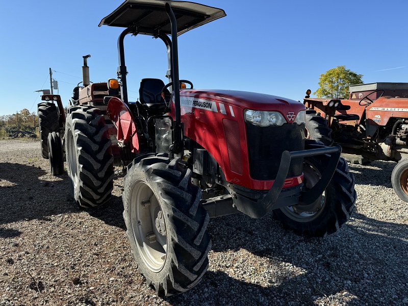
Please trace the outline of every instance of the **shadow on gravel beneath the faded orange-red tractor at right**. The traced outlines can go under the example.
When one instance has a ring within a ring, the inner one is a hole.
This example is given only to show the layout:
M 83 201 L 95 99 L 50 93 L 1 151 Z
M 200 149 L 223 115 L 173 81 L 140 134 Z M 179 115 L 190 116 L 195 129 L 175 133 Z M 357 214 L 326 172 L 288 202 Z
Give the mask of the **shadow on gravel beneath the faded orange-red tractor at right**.
M 355 183 L 359 185 L 385 186 L 392 188 L 391 173 L 396 163 L 374 161 L 369 166 L 351 165 L 349 169 L 355 176 Z

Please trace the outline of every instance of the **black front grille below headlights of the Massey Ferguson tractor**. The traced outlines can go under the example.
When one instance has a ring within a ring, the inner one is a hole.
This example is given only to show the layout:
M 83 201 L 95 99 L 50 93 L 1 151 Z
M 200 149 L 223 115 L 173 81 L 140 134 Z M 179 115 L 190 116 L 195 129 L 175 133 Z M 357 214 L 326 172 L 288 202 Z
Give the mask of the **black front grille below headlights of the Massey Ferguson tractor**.
M 282 152 L 304 149 L 304 124 L 256 126 L 246 123 L 249 171 L 254 180 L 275 180 Z M 301 175 L 303 158 L 292 159 L 287 177 Z

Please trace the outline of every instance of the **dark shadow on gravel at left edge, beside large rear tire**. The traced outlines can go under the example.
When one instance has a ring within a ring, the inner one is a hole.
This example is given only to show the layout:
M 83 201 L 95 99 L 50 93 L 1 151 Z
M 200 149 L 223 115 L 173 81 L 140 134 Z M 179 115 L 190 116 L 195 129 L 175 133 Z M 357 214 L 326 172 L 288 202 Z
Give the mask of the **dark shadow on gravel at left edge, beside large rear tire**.
M 66 172 L 56 181 L 39 179 L 45 174 L 35 166 L 0 163 L 0 224 L 77 211 L 67 203 Z

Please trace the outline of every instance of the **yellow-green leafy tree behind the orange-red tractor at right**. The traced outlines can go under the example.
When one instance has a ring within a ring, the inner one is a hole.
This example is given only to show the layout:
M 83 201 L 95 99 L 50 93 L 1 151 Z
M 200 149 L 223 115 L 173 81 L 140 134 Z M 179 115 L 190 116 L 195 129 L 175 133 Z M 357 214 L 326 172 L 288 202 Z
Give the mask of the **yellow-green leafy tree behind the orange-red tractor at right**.
M 337 66 L 320 74 L 319 88 L 313 93 L 318 98 L 347 98 L 348 86 L 363 83 L 363 74 L 357 74 L 346 66 Z

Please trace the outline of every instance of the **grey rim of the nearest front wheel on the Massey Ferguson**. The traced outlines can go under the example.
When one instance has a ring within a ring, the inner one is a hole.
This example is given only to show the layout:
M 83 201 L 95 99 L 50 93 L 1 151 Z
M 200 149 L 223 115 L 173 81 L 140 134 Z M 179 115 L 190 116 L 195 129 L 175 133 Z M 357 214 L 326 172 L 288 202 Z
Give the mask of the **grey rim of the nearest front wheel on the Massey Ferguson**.
M 143 181 L 133 185 L 130 216 L 140 257 L 151 271 L 161 271 L 167 257 L 166 221 L 158 197 Z

